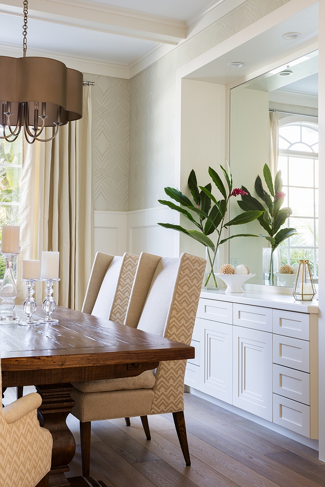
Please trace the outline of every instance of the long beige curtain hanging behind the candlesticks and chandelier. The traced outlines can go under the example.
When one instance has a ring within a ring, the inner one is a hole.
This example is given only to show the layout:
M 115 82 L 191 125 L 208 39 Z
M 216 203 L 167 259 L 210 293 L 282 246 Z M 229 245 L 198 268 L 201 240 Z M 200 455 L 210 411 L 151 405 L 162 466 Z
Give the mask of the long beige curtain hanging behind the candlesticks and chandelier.
M 84 87 L 83 118 L 60 127 L 51 142 L 26 141 L 21 190 L 21 247 L 17 262 L 19 296 L 25 299 L 22 261 L 41 259 L 42 250 L 60 252 L 58 304 L 81 309 L 94 258 L 91 87 Z M 47 128 L 44 138 L 52 134 Z M 36 284 L 40 304 L 42 283 Z

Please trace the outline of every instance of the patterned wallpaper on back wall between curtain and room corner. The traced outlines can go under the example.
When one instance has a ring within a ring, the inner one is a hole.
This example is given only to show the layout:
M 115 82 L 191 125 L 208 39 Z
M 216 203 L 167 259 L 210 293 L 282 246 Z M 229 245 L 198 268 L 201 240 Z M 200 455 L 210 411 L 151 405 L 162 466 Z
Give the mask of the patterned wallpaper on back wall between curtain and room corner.
M 94 208 L 128 210 L 130 81 L 84 74 L 92 87 Z

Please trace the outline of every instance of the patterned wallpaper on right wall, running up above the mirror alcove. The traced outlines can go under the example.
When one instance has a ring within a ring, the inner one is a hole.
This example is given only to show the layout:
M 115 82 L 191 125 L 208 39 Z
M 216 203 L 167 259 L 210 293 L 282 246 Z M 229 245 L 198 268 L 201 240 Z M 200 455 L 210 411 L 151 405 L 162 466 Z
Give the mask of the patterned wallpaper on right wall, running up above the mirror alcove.
M 290 0 L 246 0 L 130 80 L 129 211 L 174 183 L 176 69 Z

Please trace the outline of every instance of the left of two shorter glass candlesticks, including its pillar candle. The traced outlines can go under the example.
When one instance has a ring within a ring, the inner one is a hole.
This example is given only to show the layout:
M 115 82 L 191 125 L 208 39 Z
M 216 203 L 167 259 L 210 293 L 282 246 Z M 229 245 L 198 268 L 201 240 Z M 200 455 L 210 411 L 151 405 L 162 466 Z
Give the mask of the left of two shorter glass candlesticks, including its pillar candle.
M 23 260 L 23 277 L 22 281 L 26 281 L 27 284 L 27 298 L 23 303 L 23 309 L 27 314 L 25 321 L 20 321 L 19 325 L 38 325 L 38 322 L 34 322 L 32 315 L 36 311 L 37 303 L 33 297 L 34 284 L 40 281 L 40 260 Z

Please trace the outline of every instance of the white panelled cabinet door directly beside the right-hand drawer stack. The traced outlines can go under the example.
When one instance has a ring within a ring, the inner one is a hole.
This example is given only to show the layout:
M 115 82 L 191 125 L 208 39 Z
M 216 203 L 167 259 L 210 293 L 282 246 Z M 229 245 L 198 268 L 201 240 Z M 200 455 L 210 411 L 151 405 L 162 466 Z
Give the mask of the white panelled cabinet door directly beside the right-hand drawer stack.
M 233 405 L 272 421 L 272 334 L 233 326 Z

